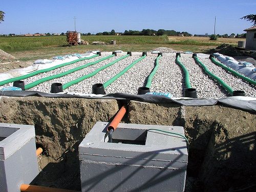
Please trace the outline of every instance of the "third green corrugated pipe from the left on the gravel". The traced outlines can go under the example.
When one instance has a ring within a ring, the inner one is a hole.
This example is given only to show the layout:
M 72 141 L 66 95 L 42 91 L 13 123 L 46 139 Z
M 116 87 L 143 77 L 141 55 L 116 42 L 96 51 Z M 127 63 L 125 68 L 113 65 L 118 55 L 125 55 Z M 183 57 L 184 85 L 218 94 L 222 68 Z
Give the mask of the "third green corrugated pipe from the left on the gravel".
M 120 58 L 118 58 L 118 59 L 116 59 L 116 60 L 114 60 L 114 61 L 108 63 L 107 65 L 102 66 L 102 67 L 96 69 L 96 70 L 95 70 L 94 72 L 92 72 L 92 73 L 89 73 L 89 74 L 87 74 L 87 75 L 84 75 L 84 76 L 82 76 L 82 77 L 79 77 L 79 78 L 77 78 L 77 79 L 74 79 L 74 80 L 72 80 L 72 81 L 70 81 L 70 82 L 67 82 L 67 83 L 63 84 L 62 88 L 63 88 L 63 90 L 65 90 L 65 89 L 67 89 L 68 87 L 73 86 L 73 84 L 76 84 L 76 83 L 78 83 L 78 82 L 81 82 L 81 81 L 84 80 L 84 79 L 90 78 L 90 77 L 96 75 L 99 71 L 101 71 L 101 70 L 103 70 L 103 69 L 105 69 L 105 68 L 108 68 L 108 67 L 112 66 L 113 64 L 115 64 L 116 62 L 118 62 L 118 61 L 120 61 L 120 60 L 122 60 L 122 59 L 124 59 L 124 58 L 126 58 L 126 57 L 129 57 L 129 56 L 130 56 L 130 55 L 124 55 L 124 56 L 122 56 L 122 57 L 120 57 Z

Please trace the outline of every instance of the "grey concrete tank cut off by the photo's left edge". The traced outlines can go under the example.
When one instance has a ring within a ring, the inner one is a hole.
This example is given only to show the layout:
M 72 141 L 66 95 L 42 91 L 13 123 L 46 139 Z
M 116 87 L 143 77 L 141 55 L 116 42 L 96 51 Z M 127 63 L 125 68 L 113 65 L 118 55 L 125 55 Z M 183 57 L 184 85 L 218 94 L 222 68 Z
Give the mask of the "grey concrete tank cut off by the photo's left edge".
M 0 191 L 20 192 L 38 173 L 34 126 L 0 123 Z

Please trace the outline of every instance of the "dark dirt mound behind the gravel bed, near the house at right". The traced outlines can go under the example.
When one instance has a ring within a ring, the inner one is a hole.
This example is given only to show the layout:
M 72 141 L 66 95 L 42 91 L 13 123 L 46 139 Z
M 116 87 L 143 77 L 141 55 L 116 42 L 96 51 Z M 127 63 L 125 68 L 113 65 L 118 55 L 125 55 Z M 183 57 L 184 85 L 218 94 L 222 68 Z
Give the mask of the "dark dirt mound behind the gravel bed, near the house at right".
M 215 49 L 210 49 L 207 53 L 221 53 L 223 55 L 228 55 L 228 56 L 239 56 L 243 55 L 239 50 L 236 48 L 232 47 L 231 45 L 228 44 L 222 44 L 221 46 L 215 48 Z

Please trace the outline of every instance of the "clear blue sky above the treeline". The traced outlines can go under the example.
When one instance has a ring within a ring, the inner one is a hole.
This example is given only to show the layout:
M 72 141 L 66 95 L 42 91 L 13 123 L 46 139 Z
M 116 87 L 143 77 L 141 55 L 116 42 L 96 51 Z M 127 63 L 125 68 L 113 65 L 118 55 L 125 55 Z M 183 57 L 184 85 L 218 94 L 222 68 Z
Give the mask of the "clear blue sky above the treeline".
M 0 10 L 6 13 L 0 34 L 66 32 L 74 30 L 74 16 L 82 33 L 149 28 L 212 34 L 216 16 L 216 34 L 237 34 L 251 27 L 239 18 L 256 14 L 256 1 L 1 0 Z

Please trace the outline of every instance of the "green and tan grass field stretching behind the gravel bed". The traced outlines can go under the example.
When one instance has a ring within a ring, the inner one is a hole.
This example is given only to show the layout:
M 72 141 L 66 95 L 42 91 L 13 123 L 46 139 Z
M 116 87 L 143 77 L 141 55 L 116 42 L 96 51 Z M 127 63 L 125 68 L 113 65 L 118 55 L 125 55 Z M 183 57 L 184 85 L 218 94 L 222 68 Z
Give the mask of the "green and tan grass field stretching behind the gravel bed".
M 39 37 L 0 37 L 0 49 L 17 57 L 19 60 L 35 60 L 51 58 L 55 55 L 83 53 L 88 50 L 100 51 L 150 51 L 157 47 L 169 47 L 177 51 L 205 52 L 224 42 L 237 45 L 237 38 L 219 38 L 210 41 L 207 37 L 167 37 L 167 36 L 81 36 L 89 44 L 92 41 L 110 42 L 116 40 L 116 45 L 67 46 L 66 36 Z

